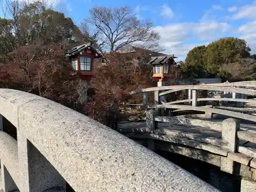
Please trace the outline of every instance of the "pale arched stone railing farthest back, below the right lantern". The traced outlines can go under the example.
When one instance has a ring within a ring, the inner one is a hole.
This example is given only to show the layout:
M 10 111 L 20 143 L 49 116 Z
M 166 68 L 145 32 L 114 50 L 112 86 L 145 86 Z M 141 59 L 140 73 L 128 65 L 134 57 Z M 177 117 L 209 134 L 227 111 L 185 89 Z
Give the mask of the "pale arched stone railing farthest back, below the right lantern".
M 216 84 L 200 84 L 200 85 L 185 85 L 185 86 L 162 86 L 162 87 L 152 87 L 142 90 L 136 90 L 130 92 L 131 95 L 143 93 L 143 105 L 146 105 L 149 108 L 169 108 L 173 109 L 172 112 L 179 111 L 201 111 L 205 112 L 206 116 L 211 117 L 212 114 L 227 115 L 231 117 L 241 116 L 242 113 L 253 114 L 256 113 L 256 108 L 243 108 L 244 103 L 251 103 L 256 105 L 256 100 L 247 99 L 248 95 L 256 96 L 256 81 L 242 81 L 242 82 L 233 82 L 233 83 L 216 83 Z M 164 97 L 167 94 L 173 92 L 179 92 L 187 90 L 188 99 L 176 100 L 171 102 L 160 102 L 161 97 Z M 214 91 L 222 92 L 221 95 L 216 95 L 213 98 L 198 98 L 198 91 Z M 154 91 L 155 93 L 155 103 L 151 106 L 147 102 L 147 93 Z M 226 97 L 226 98 L 225 98 Z M 199 108 L 200 101 L 219 101 L 220 106 L 208 106 L 208 108 Z M 235 102 L 236 107 L 232 106 L 223 106 L 223 102 Z M 188 104 L 177 104 L 177 103 L 188 103 Z M 189 106 L 190 105 L 190 106 Z M 230 115 L 229 115 L 230 113 Z M 244 115 L 243 119 L 253 118 L 253 116 Z M 255 118 L 255 116 L 254 116 Z

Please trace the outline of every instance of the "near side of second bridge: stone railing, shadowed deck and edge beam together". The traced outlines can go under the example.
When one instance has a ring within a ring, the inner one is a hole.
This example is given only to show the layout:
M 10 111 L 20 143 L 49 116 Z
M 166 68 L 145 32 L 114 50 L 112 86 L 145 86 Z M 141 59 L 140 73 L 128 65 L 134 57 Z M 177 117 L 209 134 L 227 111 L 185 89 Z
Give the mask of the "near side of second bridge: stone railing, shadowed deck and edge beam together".
M 199 116 L 198 116 L 199 117 Z M 186 116 L 158 116 L 146 112 L 146 126 L 124 134 L 153 151 L 164 150 L 219 166 L 223 172 L 241 176 L 241 192 L 256 187 L 256 131 L 253 124 L 240 127 L 237 119 L 208 121 Z M 160 124 L 159 124 L 160 123 Z M 168 124 L 163 124 L 168 123 Z M 250 129 L 251 128 L 251 129 Z M 120 130 L 122 132 L 124 130 Z

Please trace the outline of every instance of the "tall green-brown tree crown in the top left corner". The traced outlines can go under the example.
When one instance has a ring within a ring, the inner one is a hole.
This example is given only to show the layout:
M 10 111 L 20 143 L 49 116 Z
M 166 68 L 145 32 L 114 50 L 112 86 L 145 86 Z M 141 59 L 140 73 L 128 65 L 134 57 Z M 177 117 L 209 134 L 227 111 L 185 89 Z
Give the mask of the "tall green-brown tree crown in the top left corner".
M 40 2 L 17 6 L 14 12 L 10 19 L 0 18 L 0 54 L 25 45 L 67 42 L 81 33 L 71 18 Z

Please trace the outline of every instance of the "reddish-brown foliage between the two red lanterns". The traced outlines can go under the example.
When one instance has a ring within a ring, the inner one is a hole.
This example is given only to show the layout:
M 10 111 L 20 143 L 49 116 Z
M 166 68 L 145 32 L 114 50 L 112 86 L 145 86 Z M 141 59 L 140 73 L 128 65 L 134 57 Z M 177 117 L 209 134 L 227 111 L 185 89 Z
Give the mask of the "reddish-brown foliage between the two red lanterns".
M 139 53 L 106 56 L 106 63 L 96 68 L 92 86 L 95 95 L 86 103 L 85 113 L 90 117 L 111 125 L 121 117 L 120 106 L 124 102 L 141 102 L 141 95 L 132 97 L 129 92 L 136 89 L 153 87 L 152 69 L 140 63 Z

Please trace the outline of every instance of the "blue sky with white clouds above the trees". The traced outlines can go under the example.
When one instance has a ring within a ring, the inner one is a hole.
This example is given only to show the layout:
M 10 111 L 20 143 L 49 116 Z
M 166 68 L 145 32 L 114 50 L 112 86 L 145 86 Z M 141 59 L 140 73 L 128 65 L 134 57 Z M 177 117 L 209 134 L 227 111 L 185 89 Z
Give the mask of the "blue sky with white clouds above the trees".
M 78 26 L 94 6 L 129 6 L 139 18 L 153 20 L 164 53 L 175 54 L 180 59 L 184 59 L 194 47 L 226 36 L 244 38 L 252 53 L 256 53 L 256 0 L 44 1 L 58 1 L 65 5 L 66 15 Z

